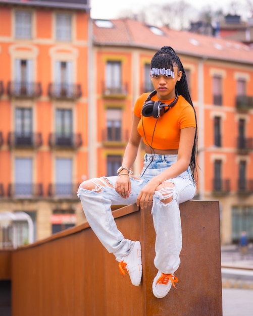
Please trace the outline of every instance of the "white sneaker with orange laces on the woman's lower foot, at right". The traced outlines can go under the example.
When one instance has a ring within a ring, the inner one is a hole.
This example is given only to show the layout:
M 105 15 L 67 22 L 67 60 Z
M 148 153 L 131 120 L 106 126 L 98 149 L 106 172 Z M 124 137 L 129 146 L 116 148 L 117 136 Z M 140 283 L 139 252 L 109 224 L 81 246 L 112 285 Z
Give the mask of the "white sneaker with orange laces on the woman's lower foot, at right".
M 171 289 L 171 285 L 176 288 L 174 283 L 177 282 L 178 278 L 176 278 L 173 274 L 164 274 L 163 272 L 158 271 L 152 285 L 153 294 L 157 298 L 163 298 L 168 294 Z

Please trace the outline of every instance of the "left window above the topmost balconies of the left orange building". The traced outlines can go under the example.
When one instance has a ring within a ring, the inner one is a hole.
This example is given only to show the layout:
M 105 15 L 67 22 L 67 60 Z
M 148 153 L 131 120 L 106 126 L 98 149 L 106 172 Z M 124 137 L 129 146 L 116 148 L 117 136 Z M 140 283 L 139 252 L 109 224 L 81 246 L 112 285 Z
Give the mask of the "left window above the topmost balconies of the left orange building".
M 15 93 L 32 95 L 33 92 L 33 61 L 15 60 Z

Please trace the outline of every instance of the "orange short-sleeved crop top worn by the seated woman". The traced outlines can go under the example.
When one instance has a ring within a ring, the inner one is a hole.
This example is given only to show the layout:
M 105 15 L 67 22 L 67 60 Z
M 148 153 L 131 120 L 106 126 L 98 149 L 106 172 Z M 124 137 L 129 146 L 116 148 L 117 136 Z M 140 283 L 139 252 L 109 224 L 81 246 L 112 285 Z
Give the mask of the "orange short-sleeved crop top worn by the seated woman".
M 196 127 L 192 106 L 182 95 L 179 95 L 175 106 L 170 108 L 162 117 L 158 119 L 153 116 L 144 117 L 141 114 L 141 109 L 148 95 L 149 93 L 141 94 L 136 100 L 133 110 L 134 115 L 140 118 L 138 133 L 143 142 L 156 149 L 178 149 L 180 130 L 186 127 Z M 151 100 L 159 100 L 157 94 Z M 173 99 L 160 101 L 169 104 Z

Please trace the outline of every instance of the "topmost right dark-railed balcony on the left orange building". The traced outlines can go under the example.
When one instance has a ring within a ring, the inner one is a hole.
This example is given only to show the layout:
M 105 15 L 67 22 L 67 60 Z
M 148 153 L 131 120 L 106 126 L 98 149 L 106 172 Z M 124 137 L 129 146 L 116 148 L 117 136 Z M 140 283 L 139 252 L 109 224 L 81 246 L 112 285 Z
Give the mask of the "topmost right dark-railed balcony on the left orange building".
M 48 96 L 56 99 L 77 99 L 82 96 L 81 85 L 49 83 Z

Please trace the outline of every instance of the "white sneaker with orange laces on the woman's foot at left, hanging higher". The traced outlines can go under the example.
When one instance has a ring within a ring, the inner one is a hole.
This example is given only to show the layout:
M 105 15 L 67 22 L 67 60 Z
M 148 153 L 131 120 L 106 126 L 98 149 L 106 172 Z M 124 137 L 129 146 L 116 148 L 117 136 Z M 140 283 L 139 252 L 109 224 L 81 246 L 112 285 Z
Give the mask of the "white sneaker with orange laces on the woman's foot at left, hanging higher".
M 116 260 L 120 262 L 120 273 L 125 275 L 124 270 L 126 270 L 126 272 L 129 274 L 132 284 L 139 286 L 142 275 L 140 242 L 135 241 L 134 246 L 128 255 L 124 256 L 122 259 L 116 258 Z

